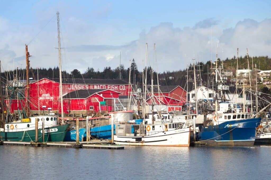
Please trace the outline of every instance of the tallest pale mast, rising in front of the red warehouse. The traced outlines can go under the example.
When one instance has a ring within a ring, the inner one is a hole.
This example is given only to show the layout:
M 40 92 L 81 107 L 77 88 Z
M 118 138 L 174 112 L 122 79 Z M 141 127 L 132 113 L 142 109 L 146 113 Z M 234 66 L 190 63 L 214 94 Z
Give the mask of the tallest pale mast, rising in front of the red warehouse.
M 61 121 L 62 124 L 64 123 L 64 113 L 63 113 L 63 95 L 62 95 L 62 70 L 61 70 L 61 49 L 60 49 L 60 32 L 59 32 L 59 12 L 56 13 L 57 15 L 57 34 L 58 34 L 58 57 L 59 57 L 59 93 L 60 93 L 60 103 L 61 103 Z

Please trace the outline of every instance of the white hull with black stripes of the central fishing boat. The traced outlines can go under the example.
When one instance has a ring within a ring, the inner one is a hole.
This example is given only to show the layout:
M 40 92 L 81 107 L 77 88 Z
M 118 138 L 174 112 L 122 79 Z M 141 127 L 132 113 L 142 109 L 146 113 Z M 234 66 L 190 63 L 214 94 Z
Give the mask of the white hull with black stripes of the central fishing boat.
M 184 146 L 190 145 L 190 128 L 163 131 L 145 136 L 114 135 L 114 142 L 138 146 Z

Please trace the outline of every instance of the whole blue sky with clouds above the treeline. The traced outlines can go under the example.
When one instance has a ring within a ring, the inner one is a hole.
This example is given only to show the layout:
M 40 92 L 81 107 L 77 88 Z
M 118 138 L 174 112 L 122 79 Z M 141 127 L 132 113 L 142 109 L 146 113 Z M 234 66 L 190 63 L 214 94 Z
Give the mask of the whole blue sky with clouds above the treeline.
M 271 1 L 2 1 L 2 70 L 59 66 L 60 15 L 62 69 L 102 71 L 135 59 L 159 72 L 183 70 L 200 62 L 244 56 L 271 56 Z M 146 48 L 147 43 L 147 48 Z M 156 44 L 156 57 L 154 55 Z M 146 50 L 147 49 L 147 50 Z M 147 52 L 147 53 L 146 53 Z M 146 57 L 147 54 L 147 57 Z

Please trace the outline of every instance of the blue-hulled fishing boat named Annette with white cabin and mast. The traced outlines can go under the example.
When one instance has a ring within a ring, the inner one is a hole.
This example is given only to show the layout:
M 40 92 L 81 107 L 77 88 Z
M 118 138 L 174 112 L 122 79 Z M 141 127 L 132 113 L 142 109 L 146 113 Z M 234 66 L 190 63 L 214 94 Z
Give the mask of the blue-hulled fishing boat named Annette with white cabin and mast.
M 228 103 L 225 92 L 229 89 L 229 86 L 225 85 L 223 80 L 219 78 L 221 77 L 219 71 L 221 67 L 218 67 L 217 60 L 215 65 L 216 95 L 214 116 L 210 123 L 204 123 L 203 126 L 199 127 L 195 144 L 253 146 L 256 127 L 260 124 L 261 118 L 254 118 L 252 113 L 248 113 L 245 103 L 243 104 L 243 110 L 238 108 L 237 104 L 234 106 L 234 104 Z M 245 87 L 243 85 L 244 93 Z M 220 103 L 218 103 L 218 100 L 220 100 Z

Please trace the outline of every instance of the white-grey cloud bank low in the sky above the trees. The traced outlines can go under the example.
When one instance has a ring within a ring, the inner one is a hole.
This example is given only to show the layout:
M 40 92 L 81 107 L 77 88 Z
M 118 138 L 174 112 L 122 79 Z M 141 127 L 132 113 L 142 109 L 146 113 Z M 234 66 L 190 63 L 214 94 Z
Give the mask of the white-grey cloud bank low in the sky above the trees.
M 109 8 L 105 8 L 104 11 L 110 12 Z M 92 31 L 92 26 L 76 18 L 69 18 L 65 24 L 68 26 L 66 31 L 62 31 L 65 35 L 61 36 L 64 40 L 62 45 L 65 47 L 62 49 L 62 61 L 63 69 L 68 72 L 73 69 L 84 72 L 88 66 L 95 70 L 103 70 L 106 66 L 114 69 L 119 65 L 120 51 L 121 63 L 125 68 L 129 66 L 129 60 L 134 58 L 138 69 L 141 69 L 142 60 L 146 58 L 146 43 L 149 52 L 148 65 L 154 64 L 153 44 L 156 43 L 159 72 L 184 69 L 192 58 L 203 62 L 211 58 L 215 60 L 216 52 L 222 59 L 233 57 L 237 54 L 237 47 L 242 56 L 245 55 L 246 48 L 250 56 L 271 56 L 271 19 L 264 19 L 261 22 L 244 19 L 235 27 L 228 29 L 222 29 L 219 21 L 213 18 L 203 19 L 193 27 L 183 28 L 175 27 L 170 22 L 162 22 L 151 27 L 149 31 L 140 32 L 138 39 L 123 45 L 118 45 L 118 42 L 112 42 L 110 45 L 102 43 L 103 40 L 110 42 L 111 38 L 114 39 L 114 30 Z M 78 29 L 77 24 L 83 28 Z M 9 69 L 13 66 L 11 64 L 13 59 L 25 67 L 24 40 L 34 36 L 33 33 L 19 31 L 15 27 L 16 25 L 0 17 L 0 33 L 4 35 L 0 39 L 0 59 L 5 70 L 7 70 L 5 66 L 9 66 Z M 30 55 L 33 55 L 30 59 L 31 66 L 34 68 L 58 66 L 58 52 L 54 47 L 57 47 L 56 29 L 42 33 L 37 40 L 31 42 L 28 47 Z

